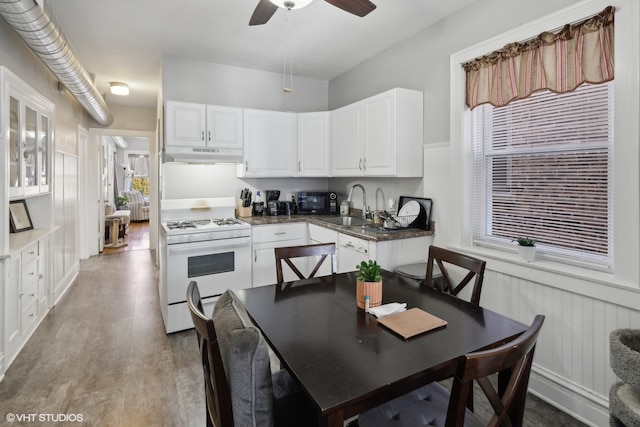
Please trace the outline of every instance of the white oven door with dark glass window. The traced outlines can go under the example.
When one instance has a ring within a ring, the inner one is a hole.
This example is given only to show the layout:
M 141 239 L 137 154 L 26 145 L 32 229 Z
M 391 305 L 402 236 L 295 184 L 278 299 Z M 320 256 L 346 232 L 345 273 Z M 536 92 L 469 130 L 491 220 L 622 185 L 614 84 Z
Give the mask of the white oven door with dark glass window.
M 251 238 L 211 240 L 167 246 L 167 302 L 186 301 L 195 280 L 202 299 L 227 289 L 251 287 Z

